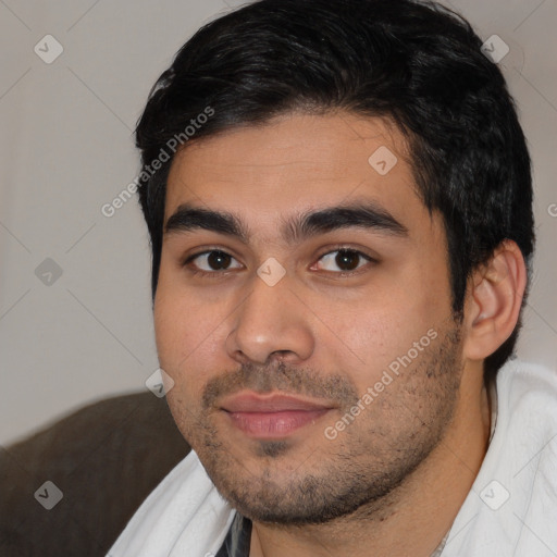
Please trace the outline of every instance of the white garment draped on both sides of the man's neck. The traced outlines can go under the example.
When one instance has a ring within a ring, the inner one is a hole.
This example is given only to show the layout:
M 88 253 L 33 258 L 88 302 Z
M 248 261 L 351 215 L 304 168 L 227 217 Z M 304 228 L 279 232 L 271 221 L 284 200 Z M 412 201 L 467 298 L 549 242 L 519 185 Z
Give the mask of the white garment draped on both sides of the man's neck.
M 442 557 L 557 557 L 557 373 L 507 362 L 495 408 L 487 454 Z M 108 557 L 213 557 L 234 516 L 191 451 Z

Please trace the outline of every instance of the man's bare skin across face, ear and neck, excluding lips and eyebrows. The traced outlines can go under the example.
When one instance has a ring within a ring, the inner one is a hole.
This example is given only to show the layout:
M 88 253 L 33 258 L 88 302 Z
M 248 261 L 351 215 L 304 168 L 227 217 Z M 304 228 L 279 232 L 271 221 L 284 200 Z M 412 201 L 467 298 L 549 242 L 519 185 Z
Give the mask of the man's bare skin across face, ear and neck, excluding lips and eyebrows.
M 368 162 L 382 146 L 398 159 L 385 175 Z M 282 234 L 300 213 L 367 201 L 406 233 Z M 232 213 L 247 232 L 246 243 L 211 230 L 164 234 L 154 325 L 174 419 L 221 494 L 253 521 L 250 555 L 429 556 L 485 456 L 483 359 L 518 319 L 525 271 L 516 245 L 502 244 L 470 277 L 455 320 L 443 222 L 416 193 L 401 134 L 344 112 L 289 113 L 188 145 L 171 169 L 165 222 L 184 203 Z M 341 247 L 374 261 L 352 253 L 343 274 Z M 214 258 L 190 259 L 216 249 L 232 256 L 216 270 Z M 274 286 L 257 274 L 269 258 L 285 271 Z M 435 338 L 327 438 L 428 331 Z M 220 406 L 247 391 L 330 409 L 282 440 L 252 438 Z

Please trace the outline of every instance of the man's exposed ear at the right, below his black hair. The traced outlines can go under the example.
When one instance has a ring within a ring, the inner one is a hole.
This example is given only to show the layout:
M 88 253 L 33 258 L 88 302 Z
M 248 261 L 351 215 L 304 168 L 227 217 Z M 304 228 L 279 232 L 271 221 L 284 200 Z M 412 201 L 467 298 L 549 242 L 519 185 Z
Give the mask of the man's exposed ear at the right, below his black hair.
M 487 358 L 512 334 L 525 287 L 522 252 L 515 242 L 506 239 L 469 281 L 465 300 L 466 358 Z

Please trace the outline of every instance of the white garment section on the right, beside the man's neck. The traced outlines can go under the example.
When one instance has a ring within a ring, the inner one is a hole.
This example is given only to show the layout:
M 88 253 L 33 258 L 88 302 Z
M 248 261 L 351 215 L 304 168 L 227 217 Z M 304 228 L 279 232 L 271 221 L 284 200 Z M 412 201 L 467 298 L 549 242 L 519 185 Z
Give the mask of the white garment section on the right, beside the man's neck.
M 507 362 L 493 410 L 487 454 L 442 555 L 555 555 L 557 372 Z

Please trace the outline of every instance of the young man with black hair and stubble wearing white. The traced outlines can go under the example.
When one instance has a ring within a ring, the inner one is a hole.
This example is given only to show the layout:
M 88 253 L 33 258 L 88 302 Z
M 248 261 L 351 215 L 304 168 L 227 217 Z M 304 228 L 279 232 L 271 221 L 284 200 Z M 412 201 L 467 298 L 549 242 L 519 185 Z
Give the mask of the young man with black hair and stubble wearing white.
M 435 4 L 261 0 L 162 74 L 139 195 L 194 451 L 111 556 L 557 555 L 557 385 L 509 360 L 530 160 L 481 47 Z

